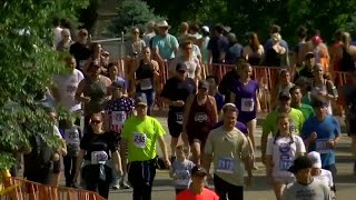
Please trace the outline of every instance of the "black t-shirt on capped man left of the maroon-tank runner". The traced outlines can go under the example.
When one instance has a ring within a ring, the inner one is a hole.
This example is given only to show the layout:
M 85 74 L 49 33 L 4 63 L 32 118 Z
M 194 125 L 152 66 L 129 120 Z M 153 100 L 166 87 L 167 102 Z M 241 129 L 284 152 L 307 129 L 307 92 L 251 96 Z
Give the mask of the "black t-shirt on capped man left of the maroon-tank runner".
M 171 101 L 182 100 L 186 102 L 187 98 L 192 92 L 192 88 L 188 84 L 187 81 L 180 80 L 177 77 L 172 77 L 167 80 L 164 89 L 160 93 L 160 97 L 169 99 Z M 171 111 L 182 112 L 184 107 L 169 107 Z

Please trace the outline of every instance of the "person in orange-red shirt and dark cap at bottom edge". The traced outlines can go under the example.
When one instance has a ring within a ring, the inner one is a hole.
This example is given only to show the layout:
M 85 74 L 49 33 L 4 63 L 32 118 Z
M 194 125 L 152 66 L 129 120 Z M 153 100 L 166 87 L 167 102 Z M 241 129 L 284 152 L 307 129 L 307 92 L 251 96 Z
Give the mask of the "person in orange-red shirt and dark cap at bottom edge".
M 176 200 L 219 200 L 214 191 L 205 188 L 207 176 L 208 172 L 201 166 L 194 167 L 189 189 L 179 192 Z

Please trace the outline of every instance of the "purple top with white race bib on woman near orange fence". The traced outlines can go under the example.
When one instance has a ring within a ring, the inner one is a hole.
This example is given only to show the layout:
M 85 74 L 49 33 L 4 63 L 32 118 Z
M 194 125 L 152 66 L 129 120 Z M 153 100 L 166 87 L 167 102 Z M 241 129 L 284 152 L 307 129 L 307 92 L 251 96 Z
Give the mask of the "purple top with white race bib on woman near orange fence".
M 236 94 L 235 104 L 239 110 L 237 120 L 245 124 L 256 118 L 256 92 L 259 86 L 255 80 L 250 80 L 247 84 L 244 84 L 240 80 L 234 82 L 233 92 Z

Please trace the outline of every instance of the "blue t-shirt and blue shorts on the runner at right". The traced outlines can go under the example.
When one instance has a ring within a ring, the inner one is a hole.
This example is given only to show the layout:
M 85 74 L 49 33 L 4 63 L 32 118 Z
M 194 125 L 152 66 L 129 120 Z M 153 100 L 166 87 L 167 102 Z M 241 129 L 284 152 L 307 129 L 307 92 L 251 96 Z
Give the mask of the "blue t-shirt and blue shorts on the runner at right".
M 317 139 L 309 144 L 308 151 L 320 153 L 323 168 L 335 164 L 335 152 L 327 148 L 325 142 L 339 136 L 340 126 L 337 120 L 333 116 L 325 117 L 323 121 L 318 121 L 316 117 L 310 117 L 305 121 L 300 137 L 306 140 L 313 132 L 317 133 Z

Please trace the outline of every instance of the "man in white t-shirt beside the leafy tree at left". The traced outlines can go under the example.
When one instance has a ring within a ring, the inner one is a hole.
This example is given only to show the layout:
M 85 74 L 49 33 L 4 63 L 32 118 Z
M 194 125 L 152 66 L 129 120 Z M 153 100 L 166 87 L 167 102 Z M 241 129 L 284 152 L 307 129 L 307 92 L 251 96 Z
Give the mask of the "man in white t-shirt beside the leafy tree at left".
M 85 78 L 83 74 L 76 69 L 76 59 L 73 57 L 66 58 L 67 67 L 70 73 L 60 74 L 53 78 L 55 86 L 52 94 L 56 103 L 63 107 L 70 112 L 81 110 L 81 104 L 75 98 L 79 82 Z

